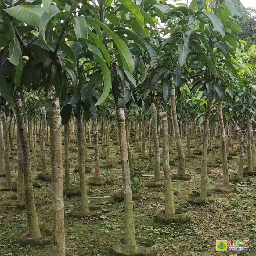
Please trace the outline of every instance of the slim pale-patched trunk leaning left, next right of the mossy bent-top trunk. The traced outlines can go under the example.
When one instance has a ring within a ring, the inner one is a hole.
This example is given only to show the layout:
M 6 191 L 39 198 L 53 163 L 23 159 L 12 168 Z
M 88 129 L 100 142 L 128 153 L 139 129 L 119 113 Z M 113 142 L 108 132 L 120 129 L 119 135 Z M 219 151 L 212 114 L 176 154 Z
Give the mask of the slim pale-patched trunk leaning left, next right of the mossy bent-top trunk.
M 226 141 L 225 141 L 225 128 L 222 114 L 222 103 L 218 102 L 218 117 L 220 126 L 220 139 L 221 139 L 221 155 L 222 155 L 222 171 L 223 171 L 223 185 L 229 187 L 229 170 L 228 160 L 226 153 Z

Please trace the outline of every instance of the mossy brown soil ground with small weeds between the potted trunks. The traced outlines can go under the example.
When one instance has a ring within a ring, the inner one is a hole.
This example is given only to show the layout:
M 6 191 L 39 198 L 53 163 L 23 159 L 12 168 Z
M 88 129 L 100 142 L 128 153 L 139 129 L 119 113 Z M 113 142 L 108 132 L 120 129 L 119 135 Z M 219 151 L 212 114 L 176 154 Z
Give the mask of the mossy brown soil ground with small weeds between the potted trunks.
M 170 136 L 172 138 L 172 135 Z M 186 141 L 184 142 L 184 148 Z M 193 142 L 193 140 L 192 140 Z M 237 141 L 234 141 L 237 142 Z M 106 186 L 88 185 L 88 197 L 91 206 L 101 206 L 109 212 L 104 212 L 101 219 L 92 220 L 74 219 L 68 215 L 72 207 L 79 206 L 79 197 L 64 198 L 65 203 L 65 230 L 66 230 L 66 255 L 67 256 L 112 256 L 113 243 L 123 236 L 124 227 L 124 203 L 114 202 L 114 192 L 121 189 L 121 165 L 118 164 L 119 147 L 110 142 L 110 160 L 117 165 L 115 169 L 102 169 L 102 175 L 110 175 L 113 183 Z M 238 146 L 234 143 L 234 149 Z M 173 148 L 173 146 L 170 146 Z M 50 147 L 47 146 L 47 156 L 50 168 Z M 142 170 L 143 174 L 153 175 L 153 171 L 145 171 L 148 160 L 142 160 L 140 153 L 136 153 L 136 143 L 131 142 L 135 167 Z M 39 150 L 39 144 L 37 145 Z M 193 148 L 192 148 L 193 150 Z M 99 148 L 101 151 L 101 147 Z M 219 150 L 216 150 L 219 157 Z M 94 150 L 88 149 L 88 155 L 93 157 Z M 63 150 L 64 153 L 64 150 Z M 185 150 L 186 153 L 186 150 Z M 245 154 L 246 155 L 246 154 Z M 177 156 L 176 150 L 171 150 L 170 160 Z M 211 152 L 208 154 L 208 159 Z M 38 162 L 40 152 L 37 152 Z M 72 185 L 79 185 L 79 174 L 74 173 L 77 166 L 77 150 L 70 150 L 70 176 Z M 246 158 L 246 157 L 245 157 Z M 222 194 L 213 191 L 215 184 L 222 183 L 222 169 L 210 168 L 208 175 L 209 193 L 214 196 L 214 203 L 197 206 L 190 205 L 186 199 L 192 191 L 200 188 L 200 175 L 193 171 L 194 167 L 200 167 L 201 156 L 195 159 L 186 159 L 186 173 L 191 175 L 190 181 L 173 181 L 174 201 L 177 208 L 191 211 L 191 222 L 183 225 L 158 225 L 154 224 L 154 215 L 157 210 L 164 207 L 164 189 L 148 189 L 144 186 L 140 189 L 141 199 L 134 201 L 134 220 L 136 235 L 143 236 L 157 243 L 159 256 L 196 256 L 219 255 L 216 252 L 216 240 L 249 240 L 249 251 L 228 251 L 223 255 L 256 255 L 256 178 L 251 177 L 251 183 L 238 184 L 237 193 L 233 195 Z M 17 180 L 17 157 L 13 156 L 11 170 L 13 180 Z M 103 161 L 103 160 L 101 160 Z M 237 171 L 239 156 L 229 160 L 229 172 Z M 245 159 L 245 165 L 246 165 Z M 176 161 L 177 162 L 177 161 Z M 93 171 L 93 162 L 87 163 Z M 171 166 L 175 173 L 176 166 Z M 36 175 L 38 170 L 32 171 L 34 182 L 38 182 Z M 88 174 L 87 178 L 93 174 Z M 148 179 L 150 177 L 142 177 Z M 5 178 L 0 178 L 4 181 Z M 40 182 L 40 181 L 39 181 Z M 34 188 L 36 208 L 41 227 L 51 229 L 51 184 L 40 182 L 43 189 Z M 15 192 L 0 192 L 0 255 L 36 256 L 52 255 L 51 245 L 23 247 L 17 244 L 17 236 L 28 228 L 25 210 L 15 207 L 5 207 L 4 198 L 15 195 Z M 110 196 L 108 198 L 90 198 Z

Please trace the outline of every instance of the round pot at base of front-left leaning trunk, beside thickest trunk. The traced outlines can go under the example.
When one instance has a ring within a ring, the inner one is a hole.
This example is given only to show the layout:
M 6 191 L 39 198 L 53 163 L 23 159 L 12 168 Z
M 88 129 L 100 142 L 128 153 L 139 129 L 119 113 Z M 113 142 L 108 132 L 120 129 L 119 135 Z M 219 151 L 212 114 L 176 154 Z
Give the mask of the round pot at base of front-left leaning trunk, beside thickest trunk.
M 52 232 L 48 229 L 40 229 L 41 238 L 30 238 L 29 230 L 25 230 L 19 234 L 17 242 L 25 246 L 46 245 L 52 243 Z

